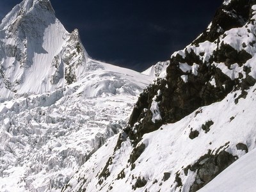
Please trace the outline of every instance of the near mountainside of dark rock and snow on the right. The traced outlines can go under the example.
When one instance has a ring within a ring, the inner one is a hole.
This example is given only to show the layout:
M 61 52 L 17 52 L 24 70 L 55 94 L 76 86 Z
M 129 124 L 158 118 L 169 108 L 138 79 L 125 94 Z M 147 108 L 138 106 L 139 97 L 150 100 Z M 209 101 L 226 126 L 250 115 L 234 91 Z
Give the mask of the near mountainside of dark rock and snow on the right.
M 218 191 L 211 180 L 255 148 L 255 14 L 255 1 L 225 0 L 61 191 Z

